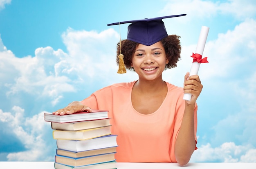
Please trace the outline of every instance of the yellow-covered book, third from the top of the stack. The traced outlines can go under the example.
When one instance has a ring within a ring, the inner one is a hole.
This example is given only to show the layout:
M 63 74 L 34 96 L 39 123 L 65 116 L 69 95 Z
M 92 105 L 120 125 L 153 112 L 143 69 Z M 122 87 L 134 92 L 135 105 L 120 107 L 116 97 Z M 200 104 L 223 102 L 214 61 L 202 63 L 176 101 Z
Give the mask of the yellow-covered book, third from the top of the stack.
M 87 140 L 100 136 L 110 135 L 110 127 L 111 126 L 78 131 L 54 130 L 52 131 L 52 135 L 54 139 Z

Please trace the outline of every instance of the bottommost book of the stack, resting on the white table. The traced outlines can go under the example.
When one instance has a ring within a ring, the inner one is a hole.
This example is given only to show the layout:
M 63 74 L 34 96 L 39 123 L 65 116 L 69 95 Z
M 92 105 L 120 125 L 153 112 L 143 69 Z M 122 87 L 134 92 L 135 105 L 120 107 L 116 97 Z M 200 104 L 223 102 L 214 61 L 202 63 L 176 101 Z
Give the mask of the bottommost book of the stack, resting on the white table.
M 110 161 L 110 162 L 103 162 L 95 165 L 83 165 L 79 167 L 73 167 L 69 165 L 63 165 L 60 163 L 55 162 L 54 163 L 55 169 L 116 169 L 116 162 Z

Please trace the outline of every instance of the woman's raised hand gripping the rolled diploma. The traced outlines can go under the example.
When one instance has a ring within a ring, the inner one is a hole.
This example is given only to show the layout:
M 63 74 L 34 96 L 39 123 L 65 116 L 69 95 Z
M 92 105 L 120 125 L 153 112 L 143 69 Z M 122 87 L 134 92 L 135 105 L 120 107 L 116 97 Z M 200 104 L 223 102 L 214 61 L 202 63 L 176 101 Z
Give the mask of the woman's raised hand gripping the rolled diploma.
M 186 101 L 189 105 L 194 105 L 198 96 L 202 91 L 203 85 L 198 75 L 189 76 L 189 72 L 184 77 L 184 93 L 191 93 L 192 97 L 190 101 Z

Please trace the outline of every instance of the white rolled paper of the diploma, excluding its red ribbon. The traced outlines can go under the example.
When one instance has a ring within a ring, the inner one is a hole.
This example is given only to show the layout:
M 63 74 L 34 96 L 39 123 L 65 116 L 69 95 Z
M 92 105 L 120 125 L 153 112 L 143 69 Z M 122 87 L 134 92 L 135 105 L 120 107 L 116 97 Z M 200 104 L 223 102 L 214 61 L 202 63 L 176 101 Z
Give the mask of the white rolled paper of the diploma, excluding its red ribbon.
M 205 43 L 206 43 L 208 32 L 209 32 L 209 27 L 202 26 L 200 36 L 199 36 L 199 39 L 198 39 L 198 44 L 197 44 L 197 47 L 195 49 L 195 53 L 203 55 L 204 46 L 205 46 Z M 200 67 L 200 63 L 193 62 L 192 66 L 191 66 L 191 69 L 190 69 L 189 76 L 197 75 L 199 67 Z M 192 96 L 191 93 L 184 93 L 183 99 L 190 101 L 191 96 Z

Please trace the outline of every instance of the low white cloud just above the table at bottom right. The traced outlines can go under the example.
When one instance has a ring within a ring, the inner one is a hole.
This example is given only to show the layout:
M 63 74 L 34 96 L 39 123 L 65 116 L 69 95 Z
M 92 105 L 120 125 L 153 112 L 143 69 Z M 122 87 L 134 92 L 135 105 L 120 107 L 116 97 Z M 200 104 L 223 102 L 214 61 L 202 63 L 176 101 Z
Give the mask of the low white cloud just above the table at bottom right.
M 219 147 L 210 143 L 198 147 L 190 162 L 256 162 L 256 149 L 252 145 L 224 142 Z

